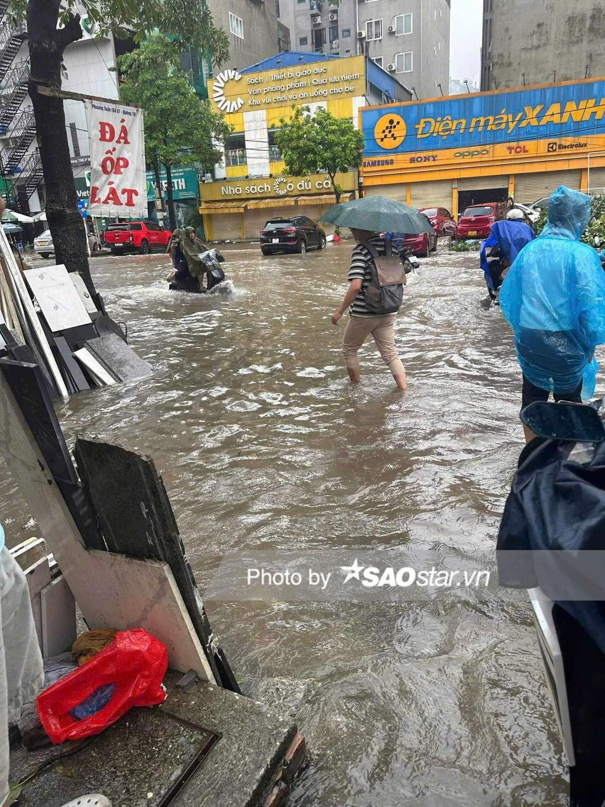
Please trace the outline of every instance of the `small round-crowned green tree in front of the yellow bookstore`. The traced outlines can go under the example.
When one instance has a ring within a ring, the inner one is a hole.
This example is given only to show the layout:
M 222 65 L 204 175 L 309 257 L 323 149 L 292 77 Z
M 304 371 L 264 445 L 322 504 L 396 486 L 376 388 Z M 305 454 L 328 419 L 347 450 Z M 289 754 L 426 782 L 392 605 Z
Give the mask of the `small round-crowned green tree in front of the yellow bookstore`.
M 280 123 L 282 128 L 276 133 L 275 142 L 288 174 L 300 176 L 325 171 L 339 203 L 342 188 L 336 184 L 336 174 L 360 167 L 364 150 L 361 132 L 350 120 L 335 118 L 321 108 L 311 115 L 310 107 L 294 107 L 291 118 L 282 118 Z

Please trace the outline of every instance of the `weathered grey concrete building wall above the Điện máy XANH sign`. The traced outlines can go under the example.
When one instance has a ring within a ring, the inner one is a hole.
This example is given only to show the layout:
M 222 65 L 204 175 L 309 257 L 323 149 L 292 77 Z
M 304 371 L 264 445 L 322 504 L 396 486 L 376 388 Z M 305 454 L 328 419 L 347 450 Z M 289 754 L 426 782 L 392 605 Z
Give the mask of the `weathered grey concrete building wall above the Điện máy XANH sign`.
M 482 90 L 603 76 L 604 27 L 602 0 L 484 0 Z

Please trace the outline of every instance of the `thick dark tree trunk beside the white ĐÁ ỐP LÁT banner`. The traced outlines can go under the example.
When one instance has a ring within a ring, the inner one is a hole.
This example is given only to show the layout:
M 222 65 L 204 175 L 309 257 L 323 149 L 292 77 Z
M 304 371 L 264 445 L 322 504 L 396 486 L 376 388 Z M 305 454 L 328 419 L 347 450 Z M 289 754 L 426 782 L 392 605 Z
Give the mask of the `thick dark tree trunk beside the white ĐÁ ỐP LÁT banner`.
M 31 73 L 28 89 L 34 107 L 46 187 L 46 215 L 56 262 L 64 263 L 69 272 L 81 274 L 96 299 L 97 292 L 88 265 L 86 234 L 77 209 L 63 101 L 38 93 L 39 84 L 60 88 L 63 52 L 68 44 L 82 36 L 79 16 L 73 16 L 65 27 L 57 30 L 59 7 L 60 0 L 29 0 L 27 36 Z

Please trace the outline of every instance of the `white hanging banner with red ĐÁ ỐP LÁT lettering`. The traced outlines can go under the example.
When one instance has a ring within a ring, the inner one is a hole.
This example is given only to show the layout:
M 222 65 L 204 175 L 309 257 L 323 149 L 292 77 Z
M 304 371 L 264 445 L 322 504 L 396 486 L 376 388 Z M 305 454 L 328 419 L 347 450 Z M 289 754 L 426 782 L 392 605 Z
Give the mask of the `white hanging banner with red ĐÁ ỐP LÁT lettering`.
M 90 143 L 89 215 L 147 218 L 143 111 L 85 101 Z

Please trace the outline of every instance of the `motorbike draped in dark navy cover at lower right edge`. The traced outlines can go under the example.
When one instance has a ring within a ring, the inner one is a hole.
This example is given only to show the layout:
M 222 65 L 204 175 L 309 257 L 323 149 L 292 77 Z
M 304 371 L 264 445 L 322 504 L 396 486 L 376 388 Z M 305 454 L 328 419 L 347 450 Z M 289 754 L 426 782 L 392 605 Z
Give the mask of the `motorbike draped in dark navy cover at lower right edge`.
M 528 589 L 570 771 L 570 807 L 605 804 L 603 401 L 532 403 L 498 537 L 499 582 Z

